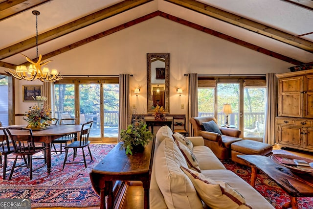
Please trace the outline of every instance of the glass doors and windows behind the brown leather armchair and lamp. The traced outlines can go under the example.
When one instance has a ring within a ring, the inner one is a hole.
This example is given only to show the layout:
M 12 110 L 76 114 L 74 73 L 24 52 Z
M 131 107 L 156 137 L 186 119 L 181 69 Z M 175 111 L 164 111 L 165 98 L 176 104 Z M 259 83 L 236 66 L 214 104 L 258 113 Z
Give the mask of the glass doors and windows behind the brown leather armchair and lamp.
M 225 123 L 224 104 L 230 104 L 229 124 L 236 126 L 245 139 L 262 140 L 265 123 L 265 77 L 198 78 L 198 114 L 214 116 Z

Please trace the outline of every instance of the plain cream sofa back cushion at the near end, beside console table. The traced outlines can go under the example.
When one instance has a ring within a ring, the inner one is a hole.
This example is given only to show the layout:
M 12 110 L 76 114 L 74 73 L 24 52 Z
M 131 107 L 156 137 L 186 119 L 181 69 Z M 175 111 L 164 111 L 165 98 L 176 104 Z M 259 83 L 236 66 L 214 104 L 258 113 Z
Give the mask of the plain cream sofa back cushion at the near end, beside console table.
M 165 138 L 156 150 L 156 183 L 168 209 L 202 209 L 203 205 L 191 180 L 180 169 L 188 167 L 178 146 Z

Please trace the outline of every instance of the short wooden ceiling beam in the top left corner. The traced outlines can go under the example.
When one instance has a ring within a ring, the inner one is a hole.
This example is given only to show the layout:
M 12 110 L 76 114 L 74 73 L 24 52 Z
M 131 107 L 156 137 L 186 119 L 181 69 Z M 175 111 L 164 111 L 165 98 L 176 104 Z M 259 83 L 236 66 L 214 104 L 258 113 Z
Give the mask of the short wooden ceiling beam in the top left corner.
M 0 21 L 51 0 L 6 0 L 0 3 Z

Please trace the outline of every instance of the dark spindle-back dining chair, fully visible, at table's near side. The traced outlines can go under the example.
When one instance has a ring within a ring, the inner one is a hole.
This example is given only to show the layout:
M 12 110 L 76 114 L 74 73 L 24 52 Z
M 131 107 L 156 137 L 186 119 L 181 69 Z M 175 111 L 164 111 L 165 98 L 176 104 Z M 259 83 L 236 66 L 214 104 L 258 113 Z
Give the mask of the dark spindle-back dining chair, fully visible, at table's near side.
M 44 151 L 44 159 L 45 159 L 44 165 L 46 165 L 45 147 L 36 146 L 34 137 L 33 137 L 33 132 L 31 129 L 21 128 L 21 127 L 8 127 L 8 128 L 5 128 L 5 131 L 9 134 L 11 138 L 11 141 L 14 147 L 14 151 L 12 152 L 12 155 L 15 155 L 15 160 L 12 165 L 9 180 L 11 180 L 12 178 L 14 169 L 16 167 L 16 162 L 19 156 L 26 157 L 27 167 L 29 167 L 29 177 L 30 179 L 32 179 L 33 171 L 35 171 L 33 170 L 33 163 L 32 163 L 33 155 Z M 41 158 L 38 158 L 38 159 L 41 159 Z

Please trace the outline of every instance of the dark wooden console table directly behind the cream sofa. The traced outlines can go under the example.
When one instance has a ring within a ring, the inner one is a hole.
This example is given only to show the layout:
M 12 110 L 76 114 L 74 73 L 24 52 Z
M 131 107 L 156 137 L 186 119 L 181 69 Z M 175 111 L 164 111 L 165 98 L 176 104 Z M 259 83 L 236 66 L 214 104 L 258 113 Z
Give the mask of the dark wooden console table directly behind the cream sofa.
M 121 142 L 120 142 L 121 143 Z M 152 140 L 143 153 L 126 155 L 118 143 L 109 154 L 90 172 L 90 180 L 94 190 L 100 195 L 100 209 L 106 209 L 105 197 L 108 196 L 107 206 L 114 205 L 113 181 L 141 181 L 144 188 L 144 209 L 149 209 L 149 187 L 154 153 Z

